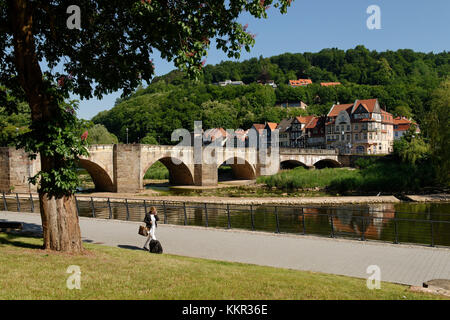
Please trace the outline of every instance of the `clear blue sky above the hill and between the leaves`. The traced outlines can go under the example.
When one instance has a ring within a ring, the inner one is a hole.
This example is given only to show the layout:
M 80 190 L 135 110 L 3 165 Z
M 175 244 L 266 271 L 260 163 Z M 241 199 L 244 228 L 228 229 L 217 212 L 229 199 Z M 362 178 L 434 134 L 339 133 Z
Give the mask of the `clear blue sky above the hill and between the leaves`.
M 371 14 L 366 11 L 371 5 L 380 8 L 381 29 L 367 27 Z M 244 50 L 238 61 L 324 48 L 347 50 L 357 45 L 377 51 L 450 51 L 449 0 L 294 0 L 287 14 L 270 8 L 267 19 L 243 14 L 239 22 L 248 23 L 248 31 L 256 34 L 256 44 L 250 53 Z M 175 69 L 173 63 L 157 53 L 153 59 L 157 76 Z M 211 45 L 207 64 L 225 60 L 230 59 Z M 91 119 L 98 112 L 111 109 L 120 94 L 115 92 L 102 100 L 81 100 L 78 116 Z

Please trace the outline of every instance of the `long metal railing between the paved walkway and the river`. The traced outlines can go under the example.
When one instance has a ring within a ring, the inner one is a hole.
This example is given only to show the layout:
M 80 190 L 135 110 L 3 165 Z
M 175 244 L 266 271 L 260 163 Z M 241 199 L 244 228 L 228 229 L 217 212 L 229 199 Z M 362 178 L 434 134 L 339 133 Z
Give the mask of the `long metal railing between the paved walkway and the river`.
M 2 200 L 5 211 L 39 211 L 37 195 L 3 193 Z M 78 215 L 82 217 L 143 221 L 145 213 L 154 206 L 164 224 L 450 246 L 448 213 L 394 213 L 346 206 L 221 204 L 83 195 L 76 195 L 75 201 Z M 418 218 L 408 218 L 410 215 Z

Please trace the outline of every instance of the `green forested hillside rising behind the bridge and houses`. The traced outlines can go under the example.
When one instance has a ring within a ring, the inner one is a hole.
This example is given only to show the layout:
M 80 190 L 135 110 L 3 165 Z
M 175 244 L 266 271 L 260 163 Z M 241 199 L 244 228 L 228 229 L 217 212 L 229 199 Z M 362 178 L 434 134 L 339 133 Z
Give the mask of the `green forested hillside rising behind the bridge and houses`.
M 192 130 L 194 120 L 203 128 L 247 129 L 252 123 L 279 122 L 283 117 L 326 114 L 333 103 L 378 98 L 395 115 L 413 117 L 421 124 L 429 110 L 431 92 L 450 74 L 450 53 L 412 50 L 376 52 L 363 46 L 347 51 L 324 49 L 318 53 L 285 53 L 243 62 L 207 65 L 198 82 L 179 71 L 156 77 L 114 108 L 92 120 L 103 124 L 120 141 L 140 141 L 147 136 L 170 143 L 176 128 Z M 310 78 L 308 87 L 292 88 L 288 80 Z M 218 81 L 242 80 L 245 86 L 219 87 Z M 277 89 L 257 81 L 274 80 Z M 339 81 L 340 86 L 321 87 L 320 82 Z M 306 111 L 285 109 L 285 101 L 303 101 Z

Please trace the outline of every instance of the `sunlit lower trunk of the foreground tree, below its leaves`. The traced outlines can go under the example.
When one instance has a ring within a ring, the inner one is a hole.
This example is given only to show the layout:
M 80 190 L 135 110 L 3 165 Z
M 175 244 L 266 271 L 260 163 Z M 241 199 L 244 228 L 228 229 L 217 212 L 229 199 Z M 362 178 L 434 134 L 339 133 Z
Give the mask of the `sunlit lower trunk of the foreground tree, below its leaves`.
M 39 193 L 44 249 L 79 253 L 83 250 L 73 195 L 57 198 Z

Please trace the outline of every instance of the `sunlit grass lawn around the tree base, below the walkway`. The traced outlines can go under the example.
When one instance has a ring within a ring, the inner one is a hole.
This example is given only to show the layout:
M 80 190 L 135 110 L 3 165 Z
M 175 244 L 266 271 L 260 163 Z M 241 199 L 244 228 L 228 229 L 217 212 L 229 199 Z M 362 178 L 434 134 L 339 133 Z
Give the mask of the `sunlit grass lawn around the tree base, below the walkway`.
M 0 299 L 439 299 L 364 279 L 85 244 L 73 256 L 40 249 L 41 239 L 0 234 Z M 81 290 L 66 287 L 81 268 Z

